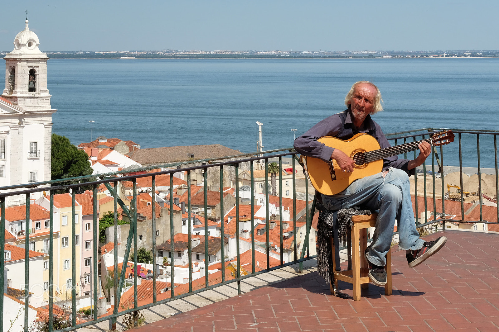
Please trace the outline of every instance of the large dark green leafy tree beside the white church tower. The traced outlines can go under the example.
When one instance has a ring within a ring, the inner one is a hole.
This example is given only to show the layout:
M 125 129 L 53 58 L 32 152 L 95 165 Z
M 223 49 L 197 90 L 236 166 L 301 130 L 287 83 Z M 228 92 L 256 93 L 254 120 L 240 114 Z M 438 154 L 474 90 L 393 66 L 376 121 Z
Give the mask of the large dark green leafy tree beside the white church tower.
M 67 137 L 52 134 L 52 160 L 50 175 L 52 180 L 68 177 L 91 175 L 93 172 L 88 155 L 72 145 Z M 90 179 L 83 180 L 87 182 Z M 78 183 L 78 180 L 64 182 Z M 83 188 L 85 190 L 87 188 Z M 88 188 L 89 189 L 89 188 Z

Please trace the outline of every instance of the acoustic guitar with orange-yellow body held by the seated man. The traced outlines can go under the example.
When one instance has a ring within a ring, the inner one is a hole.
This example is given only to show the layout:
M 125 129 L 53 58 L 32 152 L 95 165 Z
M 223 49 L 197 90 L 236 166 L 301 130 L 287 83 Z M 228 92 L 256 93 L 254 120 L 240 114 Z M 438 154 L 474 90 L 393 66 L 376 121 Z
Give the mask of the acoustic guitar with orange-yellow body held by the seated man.
M 335 195 L 345 190 L 353 181 L 379 173 L 383 169 L 383 158 L 416 151 L 423 141 L 432 147 L 449 144 L 454 142 L 454 133 L 450 130 L 435 133 L 423 141 L 386 149 L 380 149 L 378 141 L 364 133 L 356 134 L 346 141 L 331 136 L 321 137 L 317 141 L 328 147 L 340 149 L 355 162 L 352 172 L 343 172 L 335 160 L 326 163 L 318 158 L 303 157 L 305 172 L 314 188 L 324 195 Z

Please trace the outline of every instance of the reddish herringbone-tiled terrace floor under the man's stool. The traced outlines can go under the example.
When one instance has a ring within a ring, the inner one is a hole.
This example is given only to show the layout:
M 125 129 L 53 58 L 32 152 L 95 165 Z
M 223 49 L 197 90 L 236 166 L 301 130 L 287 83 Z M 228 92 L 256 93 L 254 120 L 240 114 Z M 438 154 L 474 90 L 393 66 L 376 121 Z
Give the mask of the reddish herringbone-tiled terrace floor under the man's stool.
M 499 234 L 444 233 L 446 246 L 414 269 L 403 251 L 392 248 L 392 296 L 370 284 L 361 301 L 343 300 L 329 295 L 329 286 L 314 272 L 137 330 L 499 331 Z M 350 284 L 340 286 L 352 295 Z

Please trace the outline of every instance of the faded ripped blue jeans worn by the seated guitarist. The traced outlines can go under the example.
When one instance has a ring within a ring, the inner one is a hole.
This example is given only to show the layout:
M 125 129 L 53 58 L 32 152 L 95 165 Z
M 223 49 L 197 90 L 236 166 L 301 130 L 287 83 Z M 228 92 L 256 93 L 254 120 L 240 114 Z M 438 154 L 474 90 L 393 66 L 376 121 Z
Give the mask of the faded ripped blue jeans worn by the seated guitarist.
M 393 228 L 397 220 L 399 248 L 418 250 L 424 244 L 419 238 L 412 209 L 409 176 L 401 169 L 390 167 L 381 172 L 355 180 L 345 190 L 333 196 L 322 195 L 328 210 L 361 206 L 378 211 L 373 241 L 367 258 L 375 265 L 386 265 L 386 253 L 390 250 Z

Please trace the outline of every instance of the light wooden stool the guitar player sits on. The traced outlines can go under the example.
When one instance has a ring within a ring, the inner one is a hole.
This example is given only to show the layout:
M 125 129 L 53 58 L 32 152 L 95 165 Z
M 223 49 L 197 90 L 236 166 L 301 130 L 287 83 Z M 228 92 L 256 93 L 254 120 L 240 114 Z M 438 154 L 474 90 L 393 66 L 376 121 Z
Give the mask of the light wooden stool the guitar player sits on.
M 333 237 L 330 236 L 331 248 L 332 248 L 332 261 L 333 261 L 333 272 L 334 272 L 334 284 L 336 289 L 338 289 L 338 280 L 345 281 L 352 284 L 353 288 L 353 300 L 360 300 L 360 288 L 367 289 L 369 287 L 369 269 L 367 266 L 366 259 L 364 257 L 364 252 L 367 248 L 367 228 L 374 227 L 376 225 L 377 213 L 371 215 L 354 215 L 352 216 L 352 269 L 344 270 L 338 273 L 336 271 L 336 260 L 334 259 L 334 241 Z M 360 241 L 360 246 L 359 246 Z M 360 248 L 359 248 L 360 247 Z M 385 295 L 392 295 L 392 258 L 390 256 L 390 250 L 386 254 L 386 265 L 385 270 L 387 274 L 387 280 L 385 285 Z M 334 295 L 333 285 L 331 284 L 331 295 Z

